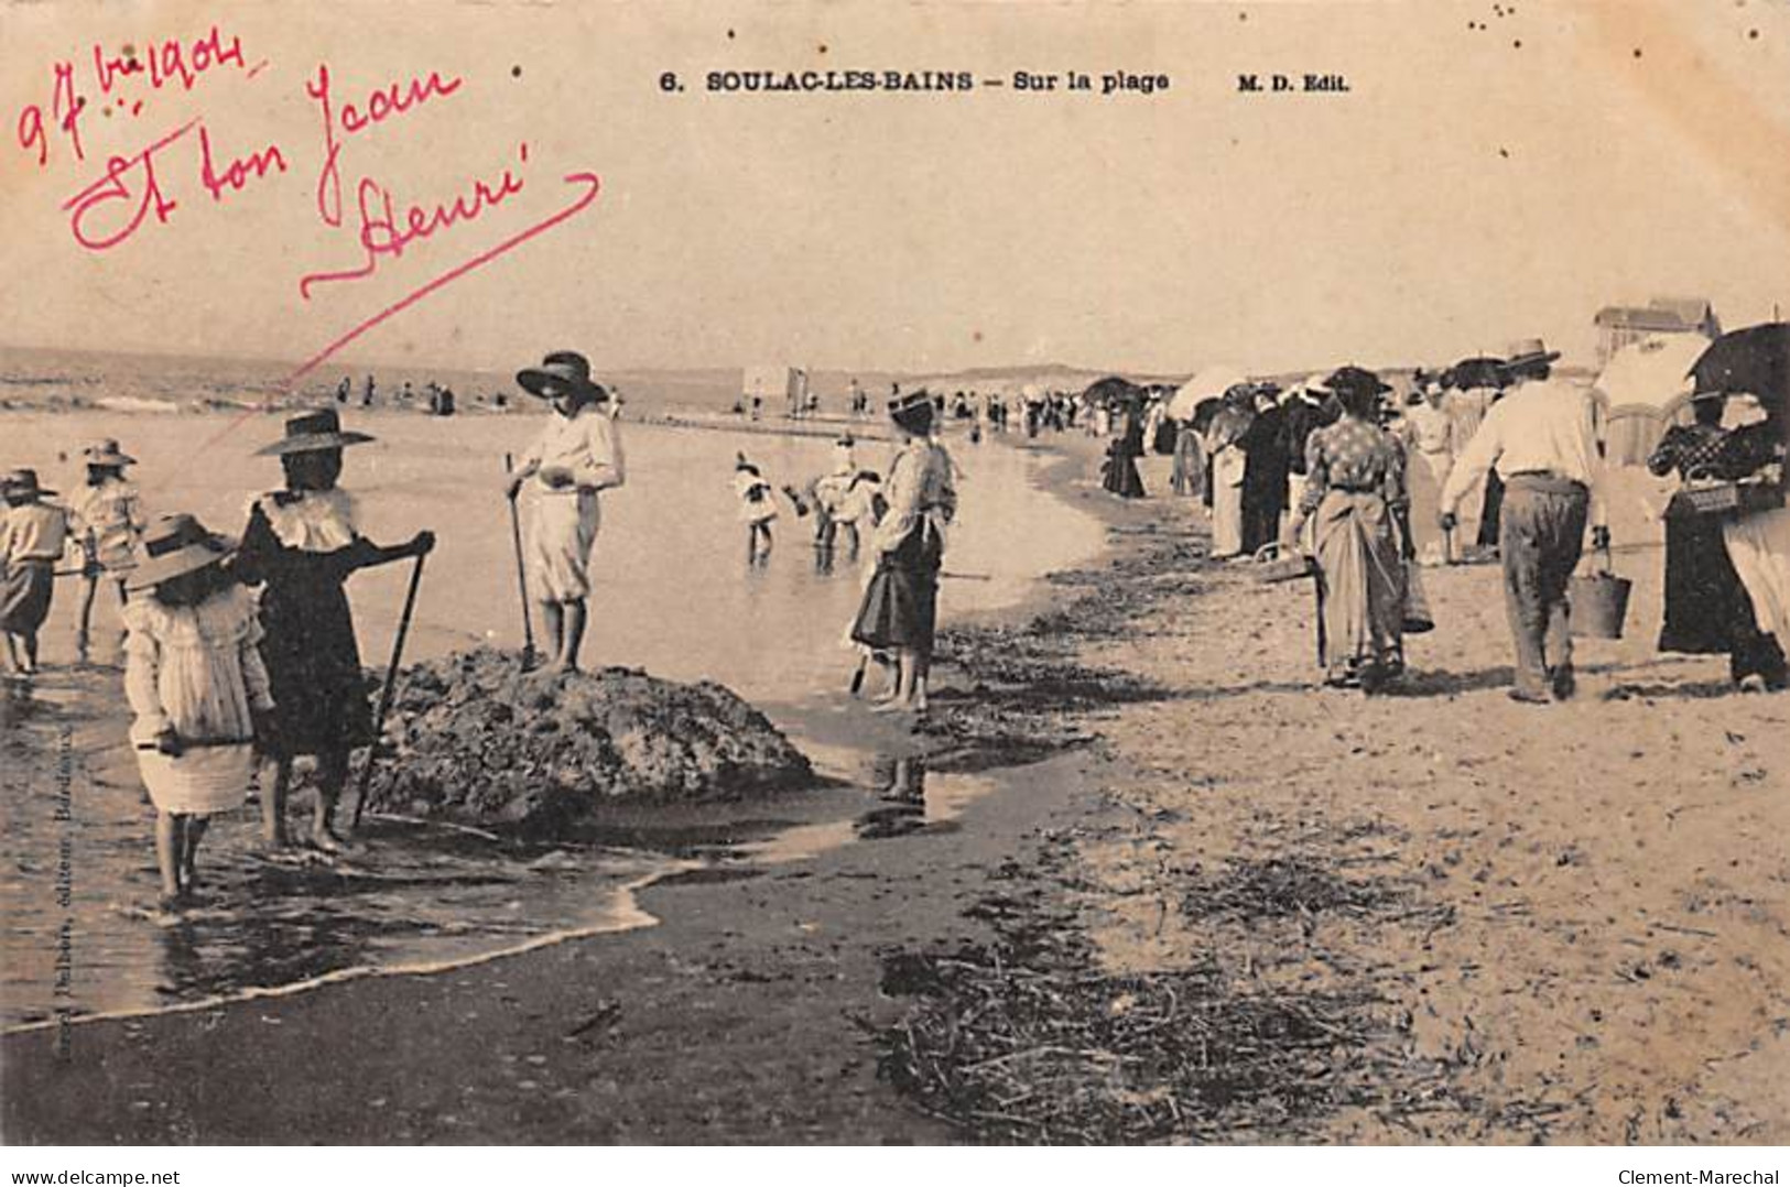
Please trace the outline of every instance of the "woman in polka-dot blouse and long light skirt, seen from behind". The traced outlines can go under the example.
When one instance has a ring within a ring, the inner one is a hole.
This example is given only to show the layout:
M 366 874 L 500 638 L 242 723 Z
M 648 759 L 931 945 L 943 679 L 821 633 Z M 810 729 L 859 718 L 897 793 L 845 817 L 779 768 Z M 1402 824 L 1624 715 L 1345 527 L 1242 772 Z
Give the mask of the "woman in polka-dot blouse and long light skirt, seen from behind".
M 1305 496 L 1283 546 L 1294 548 L 1316 517 L 1325 682 L 1371 693 L 1403 671 L 1405 451 L 1377 424 L 1380 394 L 1391 390 L 1377 374 L 1342 367 L 1325 387 L 1342 419 L 1305 442 Z

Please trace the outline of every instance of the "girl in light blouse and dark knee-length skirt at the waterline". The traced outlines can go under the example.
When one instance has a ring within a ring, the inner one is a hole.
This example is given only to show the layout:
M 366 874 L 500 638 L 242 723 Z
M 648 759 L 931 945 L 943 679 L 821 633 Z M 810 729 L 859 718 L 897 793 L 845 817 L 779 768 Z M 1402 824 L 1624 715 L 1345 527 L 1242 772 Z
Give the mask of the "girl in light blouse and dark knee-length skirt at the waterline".
M 902 433 L 884 487 L 888 512 L 872 542 L 877 569 L 852 623 L 852 641 L 895 653 L 895 689 L 886 709 L 925 709 L 938 625 L 938 569 L 945 525 L 958 514 L 950 455 L 933 440 L 933 401 L 922 390 L 890 401 L 890 419 Z

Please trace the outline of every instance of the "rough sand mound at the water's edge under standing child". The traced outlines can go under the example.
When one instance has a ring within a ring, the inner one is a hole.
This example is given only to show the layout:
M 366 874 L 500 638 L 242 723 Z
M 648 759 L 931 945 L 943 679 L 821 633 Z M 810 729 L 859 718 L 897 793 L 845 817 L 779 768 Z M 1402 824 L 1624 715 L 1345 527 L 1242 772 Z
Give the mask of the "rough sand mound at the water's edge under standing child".
M 720 684 L 632 668 L 523 673 L 474 650 L 405 671 L 374 809 L 558 831 L 614 804 L 736 798 L 807 782 L 813 768 L 763 713 Z

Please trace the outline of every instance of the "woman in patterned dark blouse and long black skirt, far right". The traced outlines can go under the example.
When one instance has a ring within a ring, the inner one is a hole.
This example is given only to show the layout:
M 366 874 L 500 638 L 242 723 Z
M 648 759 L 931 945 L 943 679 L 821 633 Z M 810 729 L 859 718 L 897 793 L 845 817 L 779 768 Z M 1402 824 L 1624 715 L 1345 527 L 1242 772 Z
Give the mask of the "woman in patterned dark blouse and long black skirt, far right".
M 1699 394 L 1692 401 L 1695 423 L 1674 426 L 1647 458 L 1647 469 L 1665 476 L 1677 471 L 1724 476 L 1733 437 L 1722 428 L 1718 392 Z M 1752 600 L 1740 584 L 1735 562 L 1722 539 L 1722 521 L 1699 514 L 1683 496 L 1666 505 L 1666 578 L 1665 625 L 1659 650 L 1686 655 L 1727 655 L 1729 675 L 1742 687 L 1783 687 L 1785 653 L 1776 636 L 1760 630 Z

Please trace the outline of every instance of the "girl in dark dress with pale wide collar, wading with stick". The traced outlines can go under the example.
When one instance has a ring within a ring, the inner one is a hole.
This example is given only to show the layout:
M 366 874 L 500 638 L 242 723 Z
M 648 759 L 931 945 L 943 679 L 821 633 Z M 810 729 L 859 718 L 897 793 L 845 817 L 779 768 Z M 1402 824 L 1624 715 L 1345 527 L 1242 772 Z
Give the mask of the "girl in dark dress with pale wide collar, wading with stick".
M 260 449 L 277 457 L 286 487 L 249 505 L 233 571 L 249 584 L 265 584 L 261 657 L 277 705 L 272 754 L 277 761 L 272 791 L 261 797 L 268 845 L 286 845 L 286 791 L 292 761 L 317 757 L 317 809 L 311 843 L 342 849 L 335 833 L 335 806 L 347 781 L 353 747 L 372 745 L 372 713 L 360 670 L 354 618 L 344 584 L 358 569 L 421 557 L 435 548 L 433 532 L 417 532 L 408 544 L 383 548 L 360 534 L 354 500 L 337 487 L 344 446 L 372 440 L 342 431 L 333 408 L 286 421 L 286 435 Z

